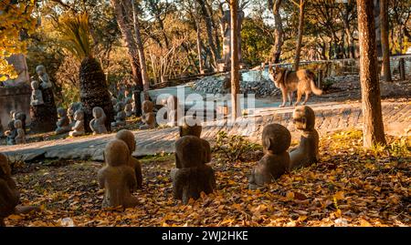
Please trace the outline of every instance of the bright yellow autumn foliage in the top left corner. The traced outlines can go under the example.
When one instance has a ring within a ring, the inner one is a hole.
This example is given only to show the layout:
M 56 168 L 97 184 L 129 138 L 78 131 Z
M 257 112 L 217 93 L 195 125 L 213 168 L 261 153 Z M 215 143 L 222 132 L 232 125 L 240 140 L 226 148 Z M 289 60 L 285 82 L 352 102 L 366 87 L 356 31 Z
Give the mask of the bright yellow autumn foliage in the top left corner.
M 32 13 L 34 0 L 0 1 L 0 82 L 7 78 L 16 78 L 14 66 L 6 58 L 14 54 L 26 53 L 26 41 L 21 34 L 31 34 L 36 28 L 36 19 Z

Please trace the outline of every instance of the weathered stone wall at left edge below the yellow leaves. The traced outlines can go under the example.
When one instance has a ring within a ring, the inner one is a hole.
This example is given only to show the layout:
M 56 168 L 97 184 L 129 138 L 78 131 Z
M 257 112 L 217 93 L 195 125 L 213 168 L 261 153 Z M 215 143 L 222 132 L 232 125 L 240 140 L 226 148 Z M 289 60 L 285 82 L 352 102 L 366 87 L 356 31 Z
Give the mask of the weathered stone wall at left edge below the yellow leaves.
M 10 120 L 9 112 L 13 109 L 26 113 L 26 124 L 30 123 L 30 96 L 31 88 L 27 85 L 0 87 L 0 118 L 5 130 Z

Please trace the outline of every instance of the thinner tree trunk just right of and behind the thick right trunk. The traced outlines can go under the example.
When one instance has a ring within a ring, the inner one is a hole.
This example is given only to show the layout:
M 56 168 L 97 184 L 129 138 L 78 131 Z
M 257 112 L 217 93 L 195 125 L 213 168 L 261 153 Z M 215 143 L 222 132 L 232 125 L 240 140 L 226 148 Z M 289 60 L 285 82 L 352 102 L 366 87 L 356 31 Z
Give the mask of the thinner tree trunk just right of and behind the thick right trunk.
M 388 42 L 388 1 L 381 0 L 380 3 L 381 21 L 381 44 L 383 48 L 383 77 L 385 82 L 392 82 L 390 67 L 390 44 Z

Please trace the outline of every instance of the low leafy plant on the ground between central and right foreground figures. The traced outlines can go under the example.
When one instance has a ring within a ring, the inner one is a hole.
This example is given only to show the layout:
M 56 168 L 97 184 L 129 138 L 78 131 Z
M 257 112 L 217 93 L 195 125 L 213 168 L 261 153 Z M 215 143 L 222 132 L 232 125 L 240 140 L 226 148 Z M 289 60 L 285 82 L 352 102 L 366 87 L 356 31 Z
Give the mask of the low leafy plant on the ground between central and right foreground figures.
M 226 131 L 219 131 L 213 153 L 216 154 L 217 158 L 237 162 L 246 160 L 246 153 L 260 149 L 261 146 L 249 142 L 248 139 L 242 136 L 228 136 Z

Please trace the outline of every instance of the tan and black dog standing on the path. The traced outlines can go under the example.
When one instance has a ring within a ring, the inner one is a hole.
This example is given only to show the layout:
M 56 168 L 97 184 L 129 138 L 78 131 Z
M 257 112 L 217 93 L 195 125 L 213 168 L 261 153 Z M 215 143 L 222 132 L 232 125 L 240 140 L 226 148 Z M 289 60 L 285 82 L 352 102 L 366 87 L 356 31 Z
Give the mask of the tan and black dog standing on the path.
M 311 91 L 317 96 L 322 94 L 322 90 L 315 86 L 314 73 L 308 69 L 290 71 L 286 68 L 280 68 L 279 66 L 276 66 L 275 69 L 273 67 L 269 67 L 269 78 L 274 82 L 276 87 L 281 89 L 282 104 L 279 107 L 285 106 L 287 103 L 287 97 L 289 97 L 290 106 L 292 106 L 292 95 L 296 90 L 297 101 L 295 106 L 299 105 L 302 94 L 305 94 L 302 105 L 307 103 Z

